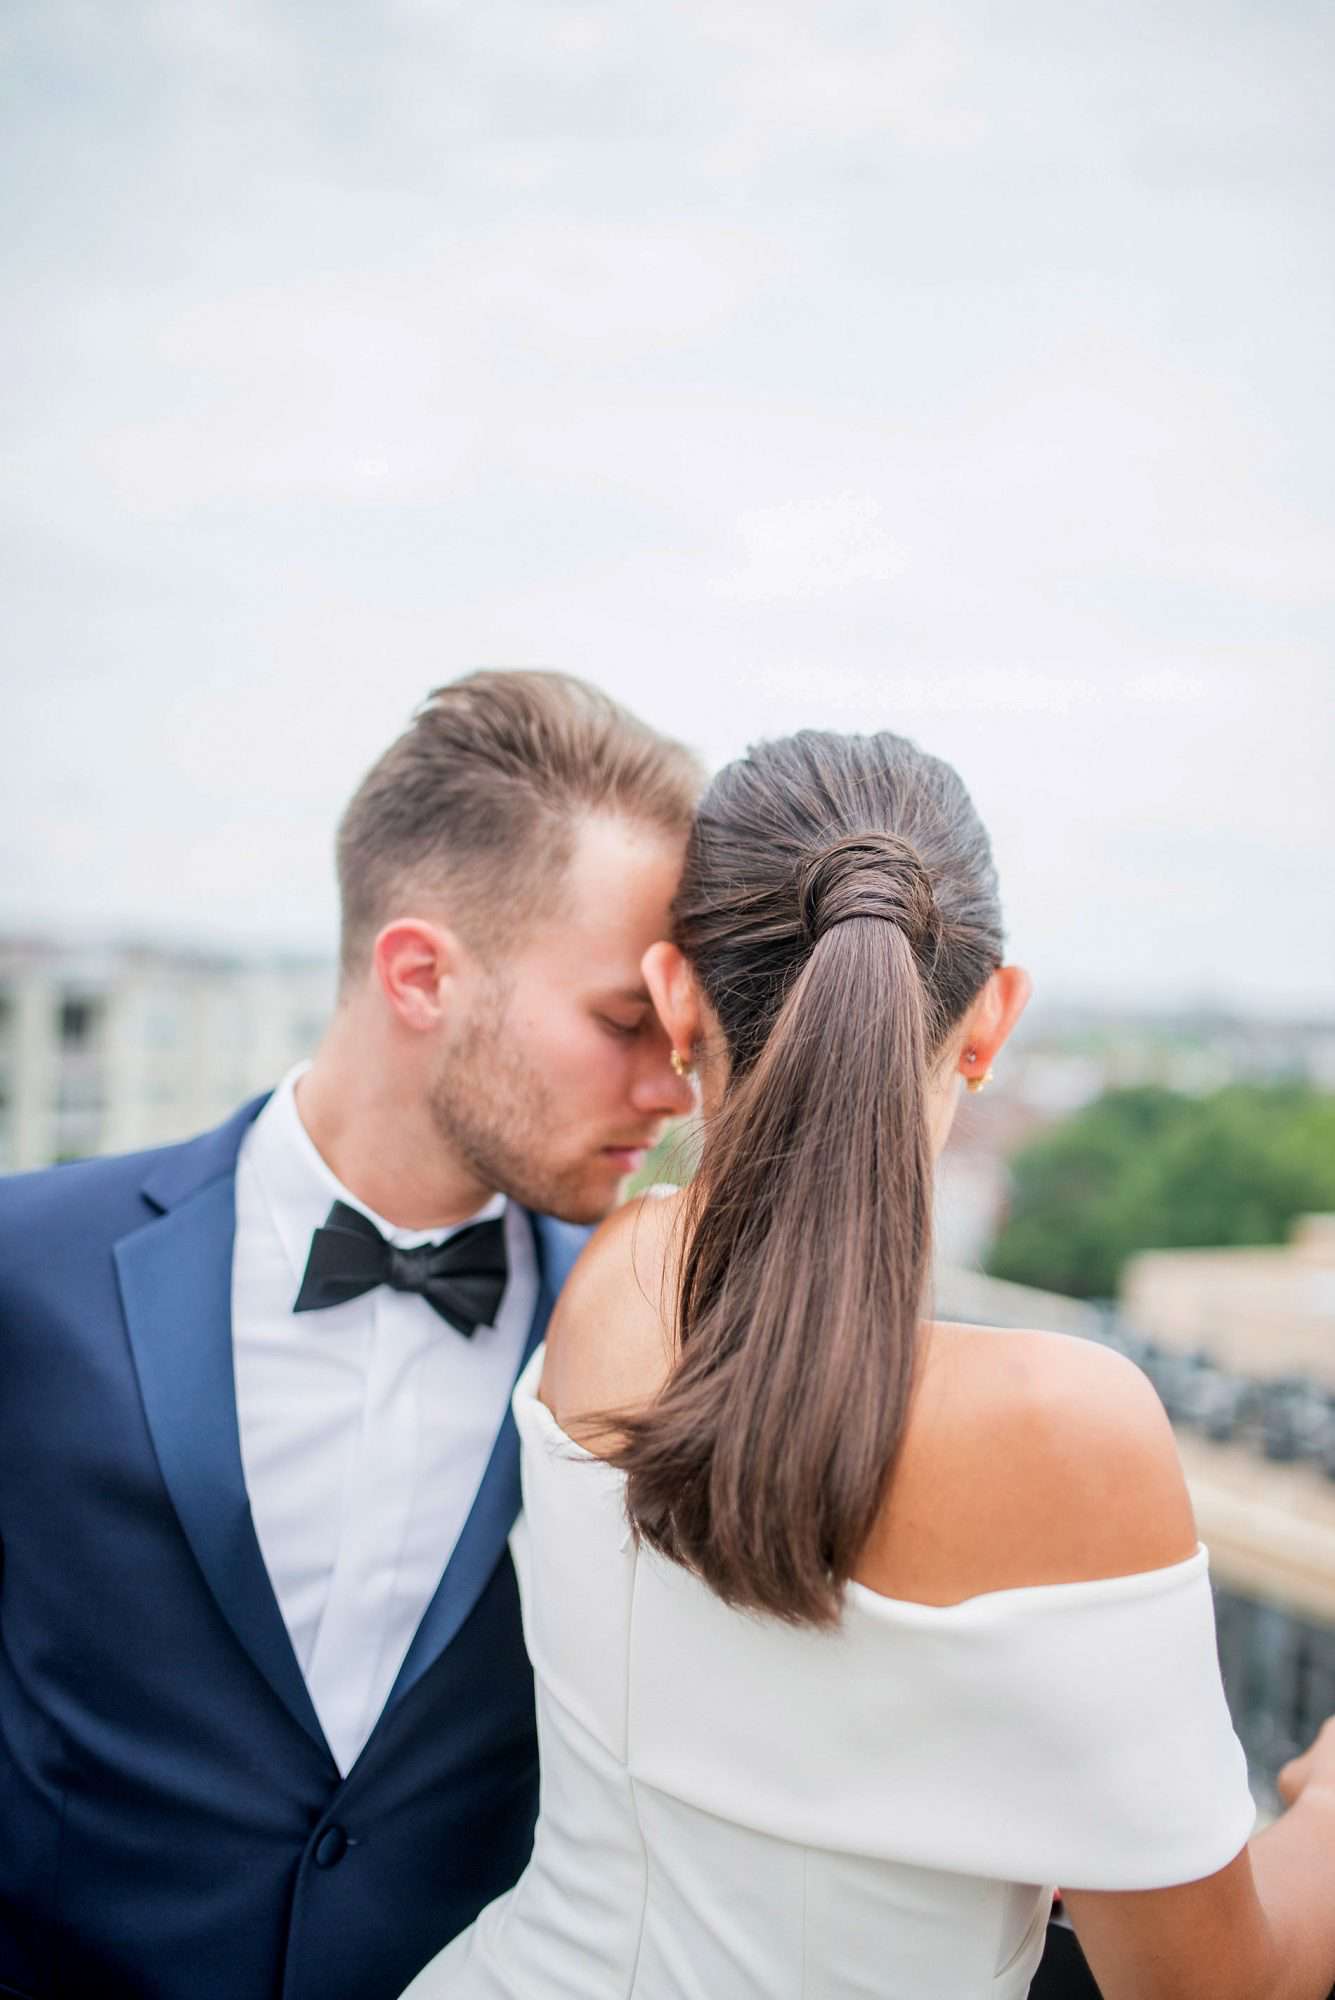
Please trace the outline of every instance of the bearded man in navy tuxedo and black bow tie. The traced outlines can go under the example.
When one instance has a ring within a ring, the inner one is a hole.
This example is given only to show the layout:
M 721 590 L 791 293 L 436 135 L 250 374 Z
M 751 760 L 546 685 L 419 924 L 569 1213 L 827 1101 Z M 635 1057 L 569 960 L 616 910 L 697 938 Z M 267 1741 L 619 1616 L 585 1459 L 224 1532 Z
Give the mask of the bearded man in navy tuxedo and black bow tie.
M 564 676 L 442 688 L 310 1068 L 0 1184 L 0 1994 L 390 2000 L 520 1872 L 508 1398 L 689 1104 L 640 958 L 697 776 Z

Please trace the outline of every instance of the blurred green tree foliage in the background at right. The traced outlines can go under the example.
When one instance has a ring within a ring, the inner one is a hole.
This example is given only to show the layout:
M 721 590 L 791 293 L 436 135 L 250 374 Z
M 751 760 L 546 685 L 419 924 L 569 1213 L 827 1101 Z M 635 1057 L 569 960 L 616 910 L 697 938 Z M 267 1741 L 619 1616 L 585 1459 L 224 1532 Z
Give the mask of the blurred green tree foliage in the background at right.
M 1105 1298 L 1137 1250 L 1283 1242 L 1295 1216 L 1325 1208 L 1335 1096 L 1299 1084 L 1205 1098 L 1113 1090 L 1015 1154 L 987 1270 Z

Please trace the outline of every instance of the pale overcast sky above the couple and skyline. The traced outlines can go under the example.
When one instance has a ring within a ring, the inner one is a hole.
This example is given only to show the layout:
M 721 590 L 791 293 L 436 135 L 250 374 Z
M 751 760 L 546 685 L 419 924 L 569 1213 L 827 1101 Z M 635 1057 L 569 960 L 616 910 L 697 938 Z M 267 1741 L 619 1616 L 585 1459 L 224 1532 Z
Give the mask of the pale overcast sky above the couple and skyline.
M 6 0 L 0 926 L 322 946 L 474 664 L 951 758 L 1051 994 L 1335 1000 L 1335 14 Z

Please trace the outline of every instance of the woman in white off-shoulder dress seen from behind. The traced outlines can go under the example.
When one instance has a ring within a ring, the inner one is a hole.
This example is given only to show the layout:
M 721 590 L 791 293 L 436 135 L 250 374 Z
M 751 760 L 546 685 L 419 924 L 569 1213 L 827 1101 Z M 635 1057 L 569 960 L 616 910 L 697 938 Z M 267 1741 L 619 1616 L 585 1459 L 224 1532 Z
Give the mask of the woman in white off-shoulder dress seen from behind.
M 412 2000 L 1019 2000 L 1053 1882 L 1105 2000 L 1335 1978 L 1335 1740 L 1247 1846 L 1153 1390 L 923 1318 L 1001 960 L 945 764 L 803 732 L 713 780 L 644 966 L 701 1170 L 604 1226 L 516 1390 L 534 1858 Z

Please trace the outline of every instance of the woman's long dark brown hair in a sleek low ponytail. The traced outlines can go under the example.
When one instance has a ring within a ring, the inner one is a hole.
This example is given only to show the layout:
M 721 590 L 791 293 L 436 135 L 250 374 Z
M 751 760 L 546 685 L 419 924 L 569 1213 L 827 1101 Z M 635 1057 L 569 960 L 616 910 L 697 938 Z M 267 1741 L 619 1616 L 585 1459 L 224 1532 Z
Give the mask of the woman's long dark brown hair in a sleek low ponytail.
M 725 1602 L 829 1624 L 913 1384 L 929 1068 L 1001 964 L 987 834 L 903 736 L 757 744 L 699 804 L 673 936 L 729 1078 L 683 1204 L 679 1358 L 616 1464 L 636 1530 Z

